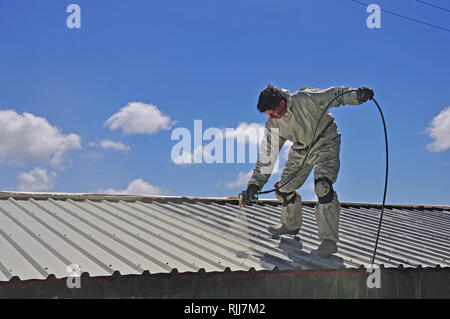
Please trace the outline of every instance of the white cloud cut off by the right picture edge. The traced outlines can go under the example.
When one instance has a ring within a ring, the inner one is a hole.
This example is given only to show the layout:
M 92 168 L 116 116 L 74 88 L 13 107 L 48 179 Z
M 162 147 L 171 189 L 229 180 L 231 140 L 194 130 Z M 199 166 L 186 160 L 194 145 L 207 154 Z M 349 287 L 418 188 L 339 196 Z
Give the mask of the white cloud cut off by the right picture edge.
M 442 152 L 450 148 L 450 106 L 443 109 L 430 123 L 426 130 L 434 139 L 427 145 L 431 152 Z

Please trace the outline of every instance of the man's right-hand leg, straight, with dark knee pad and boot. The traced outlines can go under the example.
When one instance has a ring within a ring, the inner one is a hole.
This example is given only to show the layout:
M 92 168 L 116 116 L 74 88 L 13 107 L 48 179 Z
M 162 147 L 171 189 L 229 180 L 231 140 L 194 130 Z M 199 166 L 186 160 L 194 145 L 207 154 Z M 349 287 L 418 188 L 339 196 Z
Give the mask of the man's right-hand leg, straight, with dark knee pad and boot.
M 337 251 L 339 241 L 339 203 L 333 184 L 336 182 L 340 161 L 340 135 L 319 146 L 314 152 L 316 168 L 314 169 L 315 192 L 318 198 L 315 207 L 319 238 L 322 241 L 316 253 L 328 258 Z

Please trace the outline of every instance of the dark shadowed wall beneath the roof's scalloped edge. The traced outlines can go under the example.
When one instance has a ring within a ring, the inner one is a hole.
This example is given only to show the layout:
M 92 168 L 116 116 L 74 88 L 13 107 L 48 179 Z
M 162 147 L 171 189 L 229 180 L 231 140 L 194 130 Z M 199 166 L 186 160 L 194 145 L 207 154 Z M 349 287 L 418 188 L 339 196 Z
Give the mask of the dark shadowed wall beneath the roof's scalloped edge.
M 0 298 L 364 299 L 450 298 L 449 268 L 381 269 L 381 288 L 368 289 L 361 269 L 83 276 L 0 284 Z

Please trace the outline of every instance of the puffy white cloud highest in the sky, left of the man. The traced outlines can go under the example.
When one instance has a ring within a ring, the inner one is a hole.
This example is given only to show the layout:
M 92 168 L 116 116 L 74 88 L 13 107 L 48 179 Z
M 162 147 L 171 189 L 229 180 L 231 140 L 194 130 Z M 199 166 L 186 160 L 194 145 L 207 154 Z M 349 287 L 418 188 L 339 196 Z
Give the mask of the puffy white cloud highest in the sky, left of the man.
M 125 135 L 153 135 L 161 130 L 169 130 L 174 124 L 156 105 L 132 102 L 112 115 L 104 125 L 111 130 L 122 129 Z

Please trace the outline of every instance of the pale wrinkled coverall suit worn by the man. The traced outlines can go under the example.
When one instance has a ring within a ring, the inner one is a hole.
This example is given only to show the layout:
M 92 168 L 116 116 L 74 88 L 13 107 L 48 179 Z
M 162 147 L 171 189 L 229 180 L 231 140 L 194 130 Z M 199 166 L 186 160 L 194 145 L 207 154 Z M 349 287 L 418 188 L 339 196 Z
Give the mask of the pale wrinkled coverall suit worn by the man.
M 281 211 L 281 223 L 289 231 L 298 230 L 301 227 L 302 200 L 295 190 L 303 185 L 314 166 L 315 192 L 319 199 L 324 195 L 324 188 L 318 180 L 328 179 L 329 183 L 325 185 L 336 182 L 340 167 L 341 135 L 333 116 L 329 112 L 323 116 L 317 129 L 315 140 L 312 141 L 312 138 L 324 108 L 335 96 L 348 90 L 354 89 L 351 87 L 305 88 L 298 90 L 294 94 L 290 94 L 287 90 L 281 90 L 286 100 L 287 111 L 280 119 L 269 118 L 266 122 L 266 135 L 261 143 L 258 161 L 248 182 L 249 185 L 255 184 L 260 188 L 264 186 L 272 173 L 281 148 L 289 140 L 293 142 L 293 145 L 281 175 L 280 185 L 283 185 L 299 169 L 309 144 L 313 143 L 308 159 L 301 171 L 292 181 L 279 189 L 281 193 L 291 194 L 290 203 L 283 206 Z M 330 107 L 339 107 L 346 104 L 361 104 L 357 99 L 356 92 L 340 96 L 333 101 Z M 273 130 L 274 128 L 278 130 Z M 273 138 L 278 138 L 278 147 L 271 145 Z M 268 151 L 270 149 L 272 149 L 271 152 Z M 270 154 L 269 161 L 267 161 L 267 156 L 263 157 L 262 152 Z M 331 187 L 331 185 L 329 186 Z M 332 193 L 327 196 L 327 203 L 321 204 L 319 201 L 317 202 L 315 216 L 319 227 L 319 238 L 337 242 L 339 240 L 340 203 L 332 187 L 331 191 Z M 295 199 L 292 196 L 295 196 Z M 277 198 L 286 200 L 278 192 Z

